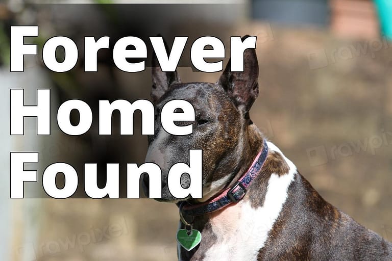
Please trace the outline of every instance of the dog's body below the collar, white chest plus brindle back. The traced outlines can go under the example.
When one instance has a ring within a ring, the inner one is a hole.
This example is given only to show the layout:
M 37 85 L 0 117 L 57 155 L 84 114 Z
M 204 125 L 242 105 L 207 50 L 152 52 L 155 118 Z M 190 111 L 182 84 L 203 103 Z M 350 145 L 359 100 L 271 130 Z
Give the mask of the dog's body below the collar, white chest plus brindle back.
M 199 248 L 180 260 L 390 261 L 392 244 L 326 202 L 283 153 L 270 152 L 243 200 L 197 218 Z M 277 174 L 279 173 L 279 175 Z

